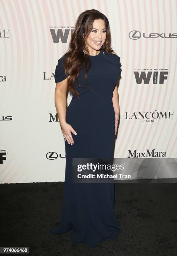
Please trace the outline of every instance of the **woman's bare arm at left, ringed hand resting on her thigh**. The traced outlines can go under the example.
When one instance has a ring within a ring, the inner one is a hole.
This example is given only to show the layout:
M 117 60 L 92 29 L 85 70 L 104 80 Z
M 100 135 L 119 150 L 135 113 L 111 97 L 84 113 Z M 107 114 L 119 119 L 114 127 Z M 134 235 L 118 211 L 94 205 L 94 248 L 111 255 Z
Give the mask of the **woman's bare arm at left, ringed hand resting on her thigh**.
M 71 145 L 74 143 L 72 133 L 77 134 L 70 124 L 66 122 L 67 109 L 67 79 L 57 82 L 55 87 L 55 108 L 57 110 L 60 126 L 67 142 Z

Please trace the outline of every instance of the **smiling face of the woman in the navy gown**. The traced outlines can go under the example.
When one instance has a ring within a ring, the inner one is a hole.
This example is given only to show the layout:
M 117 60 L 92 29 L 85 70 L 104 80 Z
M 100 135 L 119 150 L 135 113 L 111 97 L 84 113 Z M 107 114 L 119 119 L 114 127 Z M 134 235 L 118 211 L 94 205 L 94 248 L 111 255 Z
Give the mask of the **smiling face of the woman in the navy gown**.
M 92 53 L 94 50 L 99 51 L 106 40 L 106 26 L 102 19 L 94 20 L 93 28 L 87 36 L 86 45 Z

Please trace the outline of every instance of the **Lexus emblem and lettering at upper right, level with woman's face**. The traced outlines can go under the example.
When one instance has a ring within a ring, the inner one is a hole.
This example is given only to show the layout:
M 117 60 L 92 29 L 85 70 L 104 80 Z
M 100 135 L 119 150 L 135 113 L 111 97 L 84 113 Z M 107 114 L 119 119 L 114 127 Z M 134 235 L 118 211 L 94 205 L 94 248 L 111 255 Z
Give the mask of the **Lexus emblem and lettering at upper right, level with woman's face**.
M 137 40 L 140 37 L 144 37 L 144 38 L 177 38 L 177 33 L 150 33 L 149 35 L 145 36 L 145 33 L 142 33 L 138 30 L 132 30 L 129 32 L 128 36 L 130 37 L 130 39 L 132 40 Z

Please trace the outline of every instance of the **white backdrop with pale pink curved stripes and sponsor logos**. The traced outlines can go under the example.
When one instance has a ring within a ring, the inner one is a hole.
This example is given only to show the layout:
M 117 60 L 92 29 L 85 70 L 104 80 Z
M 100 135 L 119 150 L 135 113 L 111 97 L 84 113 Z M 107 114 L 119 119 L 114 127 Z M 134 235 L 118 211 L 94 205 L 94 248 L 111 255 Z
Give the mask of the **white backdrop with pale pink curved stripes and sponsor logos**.
M 1 183 L 64 181 L 54 72 L 88 9 L 107 16 L 122 64 L 114 158 L 177 157 L 176 0 L 0 0 Z

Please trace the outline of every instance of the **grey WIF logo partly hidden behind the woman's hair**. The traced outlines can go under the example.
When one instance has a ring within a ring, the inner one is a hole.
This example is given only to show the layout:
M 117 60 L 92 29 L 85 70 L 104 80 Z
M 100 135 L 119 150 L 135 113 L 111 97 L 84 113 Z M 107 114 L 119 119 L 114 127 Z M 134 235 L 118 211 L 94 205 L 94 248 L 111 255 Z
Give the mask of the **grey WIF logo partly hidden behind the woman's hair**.
M 75 30 L 75 26 L 50 26 L 50 33 L 54 43 L 67 43 L 70 33 Z

